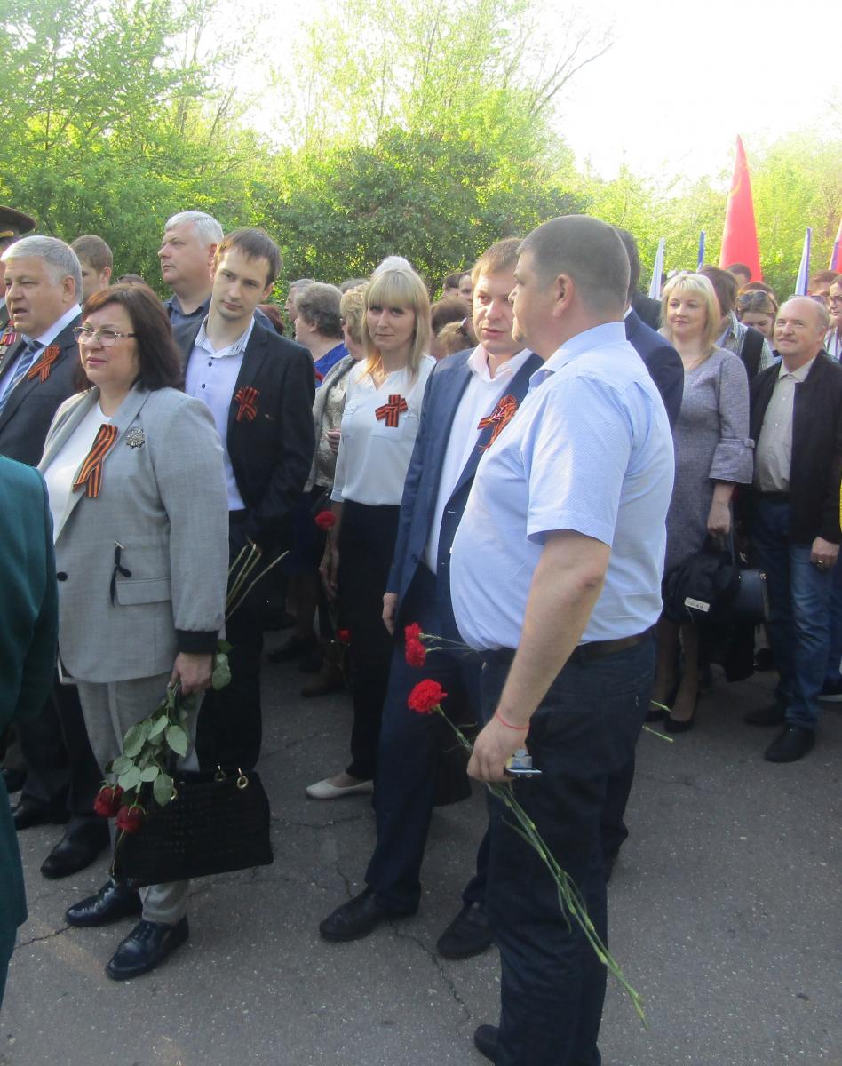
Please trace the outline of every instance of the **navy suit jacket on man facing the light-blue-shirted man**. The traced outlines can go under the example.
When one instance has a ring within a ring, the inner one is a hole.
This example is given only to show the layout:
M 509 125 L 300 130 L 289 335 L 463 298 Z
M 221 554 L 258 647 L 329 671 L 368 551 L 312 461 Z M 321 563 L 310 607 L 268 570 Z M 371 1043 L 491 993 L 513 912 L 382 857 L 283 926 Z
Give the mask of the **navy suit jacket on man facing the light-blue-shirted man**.
M 471 378 L 468 357 L 472 351 L 469 349 L 465 352 L 456 352 L 455 355 L 442 359 L 441 362 L 437 364 L 426 384 L 424 402 L 421 407 L 421 422 L 404 483 L 392 568 L 386 585 L 387 592 L 398 595 L 398 612 L 401 610 L 401 603 L 412 583 L 419 565 L 423 565 L 424 549 L 430 538 L 431 518 L 436 508 L 441 468 L 450 439 L 449 430 L 453 424 L 453 416 L 463 393 Z M 515 395 L 518 404 L 527 393 L 530 377 L 541 366 L 544 366 L 541 358 L 537 355 L 531 355 L 509 382 L 505 391 Z M 488 411 L 488 414 L 491 413 Z M 444 510 L 439 540 L 440 565 L 437 572 L 439 579 L 442 577 L 442 565 L 447 567 L 450 562 L 450 547 L 465 511 L 465 503 L 481 455 L 481 450 L 476 448 L 459 475 Z M 447 581 L 449 600 L 449 571 L 443 577 Z M 442 582 L 439 581 L 439 584 Z M 450 603 L 448 602 L 443 607 L 447 608 L 447 614 L 450 614 Z

